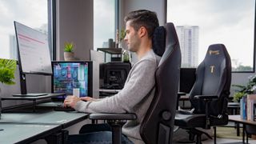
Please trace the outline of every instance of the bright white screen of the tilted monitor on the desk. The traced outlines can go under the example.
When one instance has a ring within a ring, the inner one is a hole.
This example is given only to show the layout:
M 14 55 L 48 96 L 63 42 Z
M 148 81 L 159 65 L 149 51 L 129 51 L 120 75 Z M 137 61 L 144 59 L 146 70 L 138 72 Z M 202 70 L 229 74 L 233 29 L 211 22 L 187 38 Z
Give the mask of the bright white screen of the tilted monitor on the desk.
M 14 22 L 18 60 L 23 74 L 52 74 L 47 34 Z

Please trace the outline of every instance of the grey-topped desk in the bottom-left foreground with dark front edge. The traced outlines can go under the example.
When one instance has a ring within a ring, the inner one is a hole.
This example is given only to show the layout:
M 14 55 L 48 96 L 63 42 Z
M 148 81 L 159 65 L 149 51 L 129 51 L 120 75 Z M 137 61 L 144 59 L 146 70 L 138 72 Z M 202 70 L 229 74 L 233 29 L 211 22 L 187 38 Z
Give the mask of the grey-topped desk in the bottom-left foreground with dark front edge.
M 26 132 L 26 131 L 23 131 L 22 129 L 19 129 L 19 130 L 15 130 L 17 131 L 17 134 L 13 134 L 12 137 L 14 137 L 15 139 L 16 137 L 18 137 L 17 138 L 18 141 L 21 141 L 21 142 L 26 141 L 27 138 L 29 138 L 30 141 L 34 141 L 34 140 L 46 137 L 47 135 L 54 134 L 58 130 L 65 129 L 68 126 L 72 126 L 78 122 L 81 122 L 86 118 L 88 118 L 88 116 L 89 114 L 78 113 L 75 111 L 65 112 L 65 111 L 53 111 L 53 110 L 35 112 L 35 113 L 31 113 L 31 112 L 30 113 L 24 113 L 24 112 L 2 113 L 2 118 L 0 119 L 0 129 L 4 129 L 3 131 L 5 131 L 6 129 L 5 127 L 8 128 L 8 126 L 10 126 L 10 130 L 12 130 L 16 128 L 15 126 L 27 125 L 29 127 L 28 129 L 26 129 L 29 131 L 27 132 L 28 133 L 27 135 L 26 134 L 21 134 L 21 136 L 17 135 L 19 133 Z M 8 126 L 5 126 L 5 125 L 8 125 Z M 39 127 L 38 133 L 34 132 L 34 130 L 37 130 L 37 129 L 34 129 L 34 128 L 30 129 L 30 127 L 33 127 L 33 126 Z M 6 130 L 9 130 L 9 129 L 6 129 Z M 5 134 L 2 135 L 1 133 L 2 131 L 0 131 L 0 143 L 6 143 L 2 141 L 7 141 L 7 137 Z M 9 133 L 6 133 L 6 134 L 9 134 Z M 1 141 L 1 138 L 5 138 L 5 139 Z

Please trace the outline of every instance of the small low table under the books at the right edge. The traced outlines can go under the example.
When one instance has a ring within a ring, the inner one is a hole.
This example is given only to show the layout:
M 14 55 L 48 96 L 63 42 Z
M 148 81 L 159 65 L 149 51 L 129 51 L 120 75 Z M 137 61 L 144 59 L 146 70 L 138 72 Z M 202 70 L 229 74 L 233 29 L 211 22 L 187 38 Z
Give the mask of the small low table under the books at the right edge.
M 245 142 L 245 129 L 246 125 L 250 126 L 256 126 L 256 122 L 254 121 L 247 121 L 245 119 L 241 119 L 240 115 L 229 115 L 229 121 L 230 122 L 237 122 L 237 123 L 242 123 L 242 142 Z

